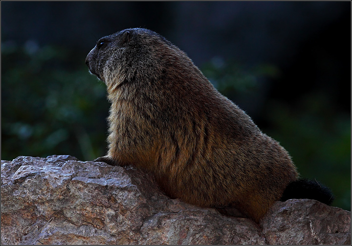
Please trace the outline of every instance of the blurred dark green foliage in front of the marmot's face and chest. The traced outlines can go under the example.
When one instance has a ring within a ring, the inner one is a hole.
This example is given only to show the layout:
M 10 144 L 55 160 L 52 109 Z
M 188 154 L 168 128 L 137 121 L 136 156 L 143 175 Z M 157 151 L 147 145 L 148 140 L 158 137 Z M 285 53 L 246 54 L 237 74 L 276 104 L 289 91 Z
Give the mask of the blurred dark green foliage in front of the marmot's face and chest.
M 89 75 L 86 55 L 31 41 L 1 44 L 1 159 L 105 155 L 106 87 Z

